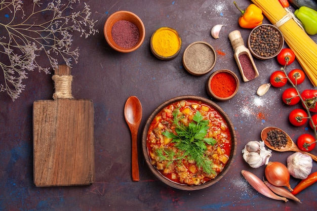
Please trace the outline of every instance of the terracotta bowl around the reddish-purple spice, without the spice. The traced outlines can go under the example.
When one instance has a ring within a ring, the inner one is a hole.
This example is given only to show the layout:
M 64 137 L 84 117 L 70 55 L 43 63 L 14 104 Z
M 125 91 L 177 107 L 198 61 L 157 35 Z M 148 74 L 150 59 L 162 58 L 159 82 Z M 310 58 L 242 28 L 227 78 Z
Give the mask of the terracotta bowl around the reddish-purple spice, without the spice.
M 124 48 L 116 44 L 113 40 L 112 26 L 118 21 L 129 21 L 138 28 L 139 39 L 134 46 L 130 48 Z M 122 53 L 129 53 L 137 50 L 142 45 L 145 37 L 145 27 L 142 20 L 136 14 L 129 11 L 117 11 L 110 15 L 104 25 L 103 32 L 109 46 L 112 49 Z

